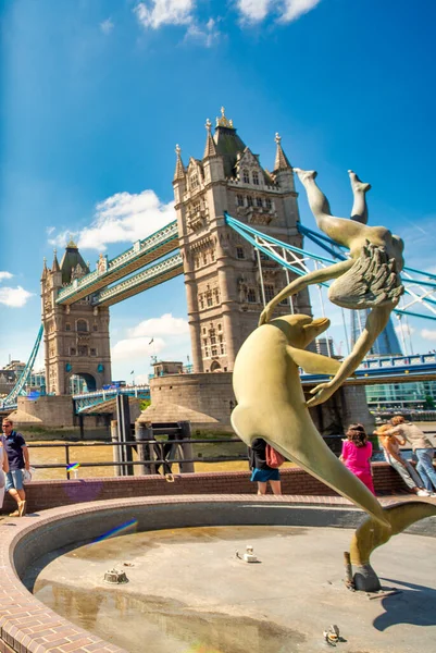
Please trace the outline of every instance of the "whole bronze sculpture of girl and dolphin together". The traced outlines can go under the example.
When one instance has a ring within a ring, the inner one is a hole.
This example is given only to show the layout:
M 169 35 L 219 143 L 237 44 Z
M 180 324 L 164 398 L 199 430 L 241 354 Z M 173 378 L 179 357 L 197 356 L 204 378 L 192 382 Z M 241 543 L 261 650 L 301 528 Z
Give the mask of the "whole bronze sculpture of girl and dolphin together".
M 331 452 L 313 424 L 308 406 L 326 401 L 352 374 L 403 292 L 399 272 L 403 266 L 402 241 L 383 226 L 369 227 L 365 193 L 369 184 L 350 172 L 354 204 L 351 220 L 331 214 L 328 201 L 315 184 L 314 172 L 297 170 L 308 190 L 309 204 L 320 229 L 350 248 L 351 258 L 292 281 L 265 307 L 260 326 L 240 348 L 233 373 L 238 402 L 232 414 L 236 433 L 250 445 L 263 438 L 288 459 L 322 480 L 365 510 L 369 517 L 357 529 L 350 546 L 356 589 L 375 591 L 379 580 L 370 564 L 371 553 L 409 525 L 436 515 L 436 506 L 414 501 L 383 508 L 365 485 Z M 313 283 L 336 281 L 329 298 L 347 308 L 370 308 L 365 328 L 351 354 L 339 362 L 306 347 L 328 328 L 327 319 L 291 315 L 270 321 L 274 307 Z M 333 377 L 317 385 L 308 403 L 299 368 Z

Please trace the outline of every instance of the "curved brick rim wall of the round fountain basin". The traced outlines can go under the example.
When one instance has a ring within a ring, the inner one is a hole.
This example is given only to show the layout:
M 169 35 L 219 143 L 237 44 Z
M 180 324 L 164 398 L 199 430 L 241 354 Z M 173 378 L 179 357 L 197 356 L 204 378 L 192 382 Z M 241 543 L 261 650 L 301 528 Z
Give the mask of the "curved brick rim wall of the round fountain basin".
M 75 653 L 88 653 L 92 645 L 99 652 L 120 653 L 122 648 L 71 624 L 25 589 L 21 579 L 38 558 L 80 541 L 98 539 L 132 521 L 137 522 L 138 532 L 194 527 L 273 526 L 316 527 L 321 534 L 323 527 L 356 528 L 363 514 L 342 500 L 332 497 L 328 501 L 329 505 L 314 507 L 295 505 L 291 497 L 253 495 L 139 497 L 54 508 L 41 516 L 20 520 L 7 519 L 0 526 L 0 554 L 4 566 L 0 587 L 1 637 L 11 651 L 20 653 L 47 653 L 54 648 L 53 642 L 59 646 L 74 642 Z M 414 533 L 431 535 L 435 534 L 435 530 L 434 519 L 423 520 L 412 529 Z M 348 542 L 350 532 L 345 534 Z M 434 540 L 427 542 L 435 549 Z M 289 560 L 292 562 L 291 552 Z M 298 559 L 294 559 L 294 564 L 298 565 Z M 340 565 L 341 551 L 338 551 L 335 567 L 339 581 L 342 576 Z M 398 563 L 397 577 L 401 572 L 401 564 Z M 337 586 L 337 590 L 345 592 L 341 586 Z M 328 624 L 322 624 L 320 628 L 326 626 Z M 420 638 L 422 641 L 422 632 Z

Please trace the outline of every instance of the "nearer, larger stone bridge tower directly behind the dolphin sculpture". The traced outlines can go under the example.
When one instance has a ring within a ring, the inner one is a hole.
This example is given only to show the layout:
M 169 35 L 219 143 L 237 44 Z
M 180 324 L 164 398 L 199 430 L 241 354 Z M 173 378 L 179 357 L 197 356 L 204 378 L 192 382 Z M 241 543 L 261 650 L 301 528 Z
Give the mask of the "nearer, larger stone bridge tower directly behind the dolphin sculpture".
M 225 224 L 224 211 L 296 247 L 299 211 L 292 168 L 276 134 L 273 172 L 262 168 L 238 136 L 224 109 L 205 124 L 203 158 L 184 165 L 176 147 L 173 178 L 179 246 L 184 259 L 194 371 L 232 371 L 236 354 L 257 326 L 263 308 L 288 281 L 283 269 Z M 292 275 L 289 275 L 292 279 Z M 294 299 L 296 312 L 311 315 L 307 291 Z M 288 313 L 289 304 L 275 315 Z

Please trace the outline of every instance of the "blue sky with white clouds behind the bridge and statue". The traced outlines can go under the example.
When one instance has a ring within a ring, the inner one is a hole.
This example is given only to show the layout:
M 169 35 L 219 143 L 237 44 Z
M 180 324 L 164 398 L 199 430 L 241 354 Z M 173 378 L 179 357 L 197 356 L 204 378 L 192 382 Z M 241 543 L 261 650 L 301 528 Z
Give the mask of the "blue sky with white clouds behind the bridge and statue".
M 30 352 L 53 243 L 61 252 L 72 233 L 94 267 L 171 220 L 175 144 L 185 161 L 201 157 L 205 119 L 222 104 L 267 168 L 278 131 L 294 165 L 319 170 L 339 215 L 354 169 L 373 185 L 372 224 L 404 237 L 408 264 L 436 271 L 432 0 L 0 8 L 0 366 Z M 300 212 L 314 226 L 303 194 Z M 411 326 L 415 350 L 436 347 L 434 322 Z M 111 342 L 114 378 L 146 374 L 153 353 L 186 360 L 182 279 L 113 307 Z

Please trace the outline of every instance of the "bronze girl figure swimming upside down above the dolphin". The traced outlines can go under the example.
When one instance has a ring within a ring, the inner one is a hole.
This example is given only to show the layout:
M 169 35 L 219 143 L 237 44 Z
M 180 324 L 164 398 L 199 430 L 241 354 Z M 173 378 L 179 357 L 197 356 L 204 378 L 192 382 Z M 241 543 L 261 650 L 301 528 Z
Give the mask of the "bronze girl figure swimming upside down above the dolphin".
M 353 373 L 385 329 L 403 292 L 399 276 L 403 267 L 403 243 L 384 226 L 368 226 L 365 196 L 371 186 L 362 183 L 356 173 L 349 171 L 354 202 L 351 219 L 347 220 L 332 215 L 328 200 L 316 185 L 314 171 L 307 172 L 298 168 L 295 170 L 306 187 L 316 224 L 333 241 L 348 247 L 350 258 L 292 281 L 265 306 L 259 324 L 267 322 L 274 307 L 286 297 L 297 294 L 308 285 L 332 279 L 335 281 L 328 289 L 331 301 L 345 308 L 371 309 L 362 334 L 334 379 L 312 391 L 314 396 L 309 406 L 315 406 L 332 396 Z

